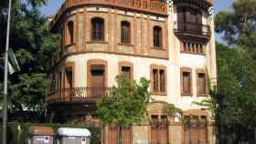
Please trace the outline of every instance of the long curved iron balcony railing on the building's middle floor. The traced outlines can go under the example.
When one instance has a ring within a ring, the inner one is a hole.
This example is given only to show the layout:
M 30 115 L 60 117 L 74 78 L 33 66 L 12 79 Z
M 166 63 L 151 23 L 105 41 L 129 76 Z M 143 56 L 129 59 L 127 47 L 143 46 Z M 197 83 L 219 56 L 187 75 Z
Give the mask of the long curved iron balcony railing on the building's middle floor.
M 114 87 L 74 87 L 65 88 L 48 95 L 48 103 L 79 102 L 93 103 L 108 96 Z

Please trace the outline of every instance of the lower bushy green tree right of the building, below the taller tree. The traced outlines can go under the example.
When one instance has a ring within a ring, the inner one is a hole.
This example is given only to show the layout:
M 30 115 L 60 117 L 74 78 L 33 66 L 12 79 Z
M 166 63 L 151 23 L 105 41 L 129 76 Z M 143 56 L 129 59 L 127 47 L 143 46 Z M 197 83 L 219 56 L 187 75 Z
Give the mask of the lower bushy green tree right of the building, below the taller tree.
M 198 105 L 212 109 L 219 143 L 251 141 L 256 129 L 255 61 L 240 50 L 217 44 L 218 89 Z

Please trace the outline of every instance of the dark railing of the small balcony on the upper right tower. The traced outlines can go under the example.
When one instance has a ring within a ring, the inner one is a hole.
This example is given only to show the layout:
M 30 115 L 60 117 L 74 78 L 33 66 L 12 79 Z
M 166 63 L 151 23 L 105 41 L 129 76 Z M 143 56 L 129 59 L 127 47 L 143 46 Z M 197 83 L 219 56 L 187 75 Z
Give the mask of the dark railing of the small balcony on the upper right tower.
M 196 23 L 176 23 L 175 32 L 177 35 L 210 36 L 210 27 Z

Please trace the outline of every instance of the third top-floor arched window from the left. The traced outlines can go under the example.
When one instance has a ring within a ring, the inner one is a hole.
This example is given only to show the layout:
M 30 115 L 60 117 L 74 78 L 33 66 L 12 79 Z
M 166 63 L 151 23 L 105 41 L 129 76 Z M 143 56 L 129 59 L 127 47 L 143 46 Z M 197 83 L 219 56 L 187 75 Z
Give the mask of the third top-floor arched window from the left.
M 123 21 L 121 23 L 121 43 L 131 44 L 131 28 L 130 23 Z

